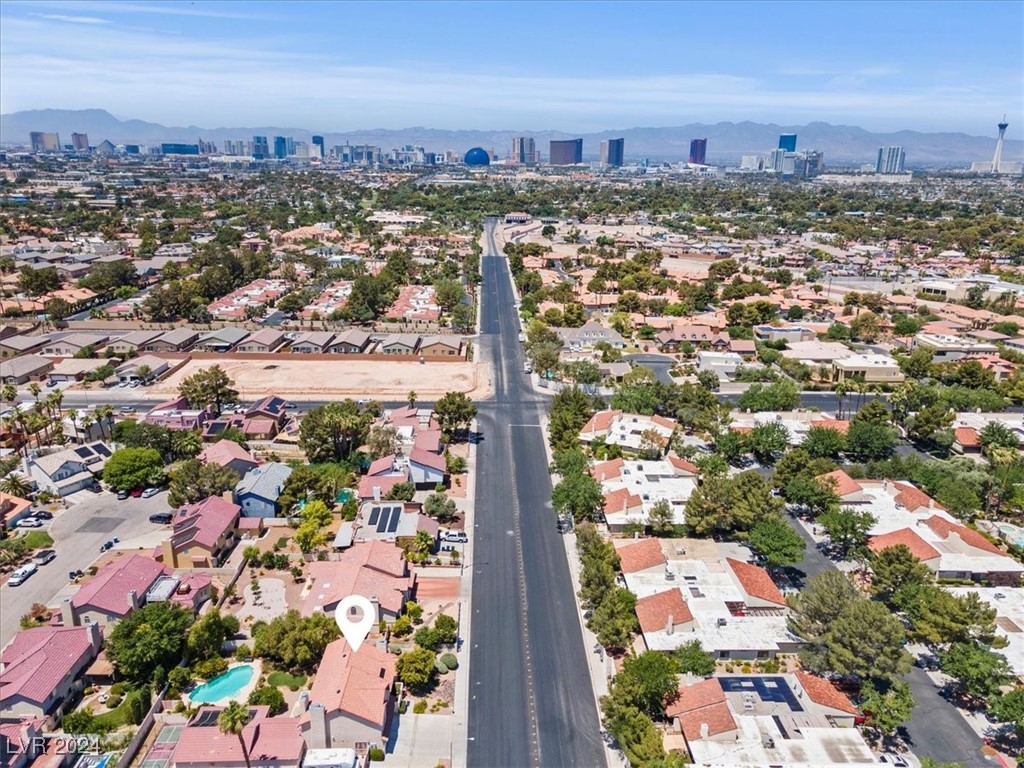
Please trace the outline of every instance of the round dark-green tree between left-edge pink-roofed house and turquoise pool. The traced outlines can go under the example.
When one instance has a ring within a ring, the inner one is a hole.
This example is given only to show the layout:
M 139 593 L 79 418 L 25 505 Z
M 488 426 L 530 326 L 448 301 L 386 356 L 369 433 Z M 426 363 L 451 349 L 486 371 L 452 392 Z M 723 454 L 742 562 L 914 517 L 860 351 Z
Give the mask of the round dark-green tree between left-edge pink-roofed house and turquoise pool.
M 118 675 L 148 682 L 158 667 L 174 669 L 181 660 L 191 623 L 191 613 L 174 603 L 150 603 L 114 626 L 106 656 Z

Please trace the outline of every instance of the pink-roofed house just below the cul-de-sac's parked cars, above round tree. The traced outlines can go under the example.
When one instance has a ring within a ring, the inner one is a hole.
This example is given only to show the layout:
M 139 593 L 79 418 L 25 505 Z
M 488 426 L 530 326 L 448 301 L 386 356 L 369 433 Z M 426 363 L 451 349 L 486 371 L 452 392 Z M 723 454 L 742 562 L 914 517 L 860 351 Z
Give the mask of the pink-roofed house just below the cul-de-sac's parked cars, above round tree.
M 112 560 L 85 582 L 61 606 L 67 627 L 114 624 L 145 603 L 145 595 L 169 570 L 152 557 L 129 555 Z

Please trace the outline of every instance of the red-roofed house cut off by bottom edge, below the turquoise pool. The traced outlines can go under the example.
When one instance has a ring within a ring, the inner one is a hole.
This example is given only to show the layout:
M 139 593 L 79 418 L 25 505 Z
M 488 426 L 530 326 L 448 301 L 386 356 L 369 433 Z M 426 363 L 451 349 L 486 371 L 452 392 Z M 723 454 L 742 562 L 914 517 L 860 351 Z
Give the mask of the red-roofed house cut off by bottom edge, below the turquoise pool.
M 151 749 L 161 750 L 160 760 L 168 768 L 295 768 L 302 765 L 306 742 L 300 718 L 272 718 L 269 707 L 250 707 L 250 719 L 240 738 L 222 732 L 217 726 L 222 711 L 220 707 L 202 708 L 181 728 L 176 741 L 158 742 Z M 169 757 L 168 750 L 173 750 Z

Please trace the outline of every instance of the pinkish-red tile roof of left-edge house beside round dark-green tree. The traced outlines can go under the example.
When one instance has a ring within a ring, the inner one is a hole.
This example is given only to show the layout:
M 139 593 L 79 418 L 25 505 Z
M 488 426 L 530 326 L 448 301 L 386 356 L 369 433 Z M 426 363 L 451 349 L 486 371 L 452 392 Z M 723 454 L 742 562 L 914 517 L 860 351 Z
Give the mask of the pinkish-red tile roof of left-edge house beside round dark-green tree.
M 14 696 L 42 705 L 69 675 L 93 656 L 90 627 L 20 630 L 0 653 L 0 703 Z

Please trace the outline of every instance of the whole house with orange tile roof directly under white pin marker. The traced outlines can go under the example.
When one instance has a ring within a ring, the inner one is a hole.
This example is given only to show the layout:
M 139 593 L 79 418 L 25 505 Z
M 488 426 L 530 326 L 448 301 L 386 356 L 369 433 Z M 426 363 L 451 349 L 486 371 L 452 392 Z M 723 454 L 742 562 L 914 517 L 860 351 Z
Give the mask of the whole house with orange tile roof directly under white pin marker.
M 347 640 L 327 646 L 302 716 L 311 749 L 386 743 L 391 732 L 397 657 L 370 643 L 353 651 Z

